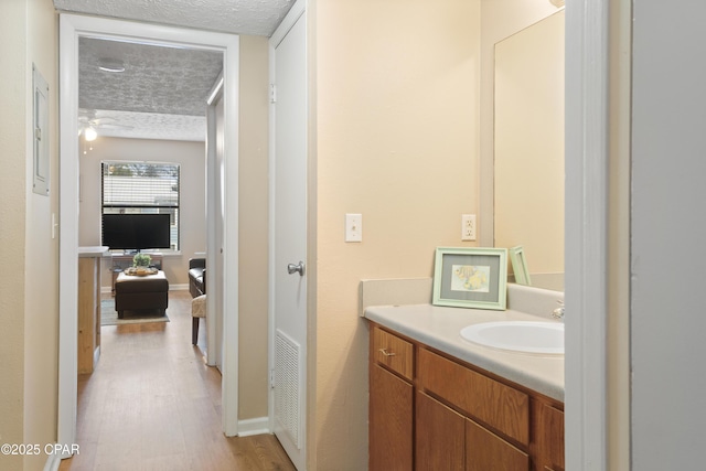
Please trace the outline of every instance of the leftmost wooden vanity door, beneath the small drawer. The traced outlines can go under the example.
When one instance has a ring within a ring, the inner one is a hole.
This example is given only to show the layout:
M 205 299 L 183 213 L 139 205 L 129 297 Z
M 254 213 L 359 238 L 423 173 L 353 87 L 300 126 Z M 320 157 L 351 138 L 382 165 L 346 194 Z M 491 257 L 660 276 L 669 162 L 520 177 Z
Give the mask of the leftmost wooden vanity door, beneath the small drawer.
M 371 364 L 370 470 L 411 470 L 413 387 Z

